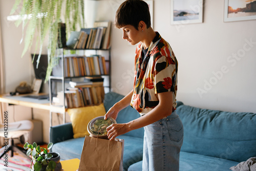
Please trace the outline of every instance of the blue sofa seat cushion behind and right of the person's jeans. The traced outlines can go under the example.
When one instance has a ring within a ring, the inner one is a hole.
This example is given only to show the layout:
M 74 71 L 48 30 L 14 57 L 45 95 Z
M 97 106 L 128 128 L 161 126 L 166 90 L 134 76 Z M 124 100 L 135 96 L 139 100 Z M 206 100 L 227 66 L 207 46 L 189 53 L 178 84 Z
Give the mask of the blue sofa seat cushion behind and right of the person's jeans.
M 180 152 L 180 171 L 227 171 L 229 167 L 238 162 L 199 155 L 195 153 Z M 129 171 L 142 170 L 142 161 L 131 165 Z

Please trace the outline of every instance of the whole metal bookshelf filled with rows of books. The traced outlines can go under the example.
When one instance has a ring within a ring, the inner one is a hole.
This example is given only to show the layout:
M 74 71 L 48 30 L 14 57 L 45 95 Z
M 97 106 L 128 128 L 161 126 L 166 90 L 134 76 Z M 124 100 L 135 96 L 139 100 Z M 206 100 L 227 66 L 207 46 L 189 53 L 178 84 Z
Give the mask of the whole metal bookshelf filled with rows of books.
M 67 109 L 98 105 L 110 91 L 110 28 L 110 22 L 95 22 L 95 28 L 72 32 L 68 47 L 56 50 L 49 98 L 50 105 L 62 110 L 50 111 L 51 121 L 52 113 L 62 111 L 65 123 Z

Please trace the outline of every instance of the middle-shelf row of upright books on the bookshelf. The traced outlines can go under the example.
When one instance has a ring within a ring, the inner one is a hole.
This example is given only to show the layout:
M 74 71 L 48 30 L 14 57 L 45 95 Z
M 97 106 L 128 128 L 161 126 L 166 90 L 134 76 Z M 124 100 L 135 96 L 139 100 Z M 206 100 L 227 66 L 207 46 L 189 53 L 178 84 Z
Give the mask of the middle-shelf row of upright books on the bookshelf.
M 65 56 L 65 77 L 80 77 L 90 75 L 108 75 L 109 61 L 101 55 Z

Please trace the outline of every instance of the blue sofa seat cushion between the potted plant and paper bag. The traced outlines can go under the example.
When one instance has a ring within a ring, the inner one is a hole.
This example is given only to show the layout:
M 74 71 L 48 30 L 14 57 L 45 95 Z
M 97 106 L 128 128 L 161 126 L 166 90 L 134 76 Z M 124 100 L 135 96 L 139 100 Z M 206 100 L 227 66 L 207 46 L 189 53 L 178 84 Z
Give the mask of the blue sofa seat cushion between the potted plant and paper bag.
M 84 137 L 72 138 L 66 141 L 58 142 L 53 145 L 52 151 L 60 155 L 60 160 L 69 160 L 74 158 L 81 158 L 82 146 Z

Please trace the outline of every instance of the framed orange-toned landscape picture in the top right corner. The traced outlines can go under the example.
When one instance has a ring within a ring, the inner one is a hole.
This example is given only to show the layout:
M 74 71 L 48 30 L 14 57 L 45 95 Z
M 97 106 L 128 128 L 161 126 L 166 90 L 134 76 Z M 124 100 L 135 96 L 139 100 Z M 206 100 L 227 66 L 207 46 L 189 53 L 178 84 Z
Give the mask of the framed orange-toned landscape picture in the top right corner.
M 255 0 L 225 0 L 224 22 L 256 19 Z

